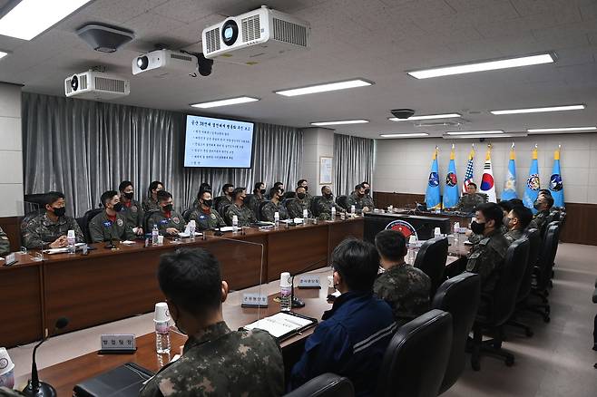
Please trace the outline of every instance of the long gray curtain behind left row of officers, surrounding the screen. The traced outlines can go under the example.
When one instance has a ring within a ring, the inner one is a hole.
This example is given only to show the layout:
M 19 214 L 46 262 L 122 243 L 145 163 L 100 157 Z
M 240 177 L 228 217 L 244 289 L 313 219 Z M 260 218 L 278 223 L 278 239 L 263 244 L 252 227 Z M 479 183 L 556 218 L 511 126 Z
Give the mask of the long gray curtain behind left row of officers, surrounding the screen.
M 81 217 L 124 179 L 139 200 L 161 180 L 175 208 L 184 209 L 201 182 L 219 195 L 224 183 L 250 191 L 257 181 L 291 187 L 301 177 L 303 136 L 296 128 L 255 123 L 250 169 L 184 168 L 184 129 L 179 112 L 25 92 L 25 194 L 63 191 L 67 213 Z

